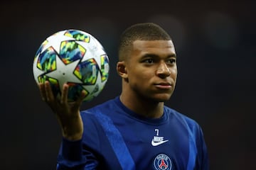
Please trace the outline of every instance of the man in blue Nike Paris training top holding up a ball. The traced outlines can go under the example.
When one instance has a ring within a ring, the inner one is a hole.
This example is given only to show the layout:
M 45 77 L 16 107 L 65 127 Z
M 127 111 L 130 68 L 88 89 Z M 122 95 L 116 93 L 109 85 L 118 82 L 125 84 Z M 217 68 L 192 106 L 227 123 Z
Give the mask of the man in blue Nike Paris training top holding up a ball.
M 63 132 L 57 169 L 208 169 L 201 127 L 164 106 L 174 92 L 176 52 L 170 36 L 154 23 L 124 30 L 117 73 L 120 96 L 80 112 L 85 93 L 58 101 L 50 84 L 39 84 L 43 101 Z

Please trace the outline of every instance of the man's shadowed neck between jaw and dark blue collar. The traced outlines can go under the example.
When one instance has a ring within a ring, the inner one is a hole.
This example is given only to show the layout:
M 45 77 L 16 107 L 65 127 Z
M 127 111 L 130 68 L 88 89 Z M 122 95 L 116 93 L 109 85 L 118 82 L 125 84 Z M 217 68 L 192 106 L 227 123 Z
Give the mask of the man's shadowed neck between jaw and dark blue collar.
M 140 96 L 132 97 L 130 94 L 124 93 L 120 95 L 120 101 L 130 110 L 146 118 L 160 118 L 164 113 L 164 102 Z

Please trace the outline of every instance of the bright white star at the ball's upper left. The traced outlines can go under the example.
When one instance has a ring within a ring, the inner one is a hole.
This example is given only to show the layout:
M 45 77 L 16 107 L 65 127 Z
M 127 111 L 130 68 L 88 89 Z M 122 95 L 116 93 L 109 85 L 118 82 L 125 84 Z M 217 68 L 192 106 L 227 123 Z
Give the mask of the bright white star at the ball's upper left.
M 66 30 L 60 31 L 57 34 L 51 35 L 46 40 L 48 40 L 48 43 L 43 47 L 42 51 L 46 50 L 48 47 L 53 47 L 56 52 L 60 52 L 60 44 L 63 41 L 66 40 L 75 40 L 75 38 L 70 38 L 68 36 L 65 36 L 64 33 Z

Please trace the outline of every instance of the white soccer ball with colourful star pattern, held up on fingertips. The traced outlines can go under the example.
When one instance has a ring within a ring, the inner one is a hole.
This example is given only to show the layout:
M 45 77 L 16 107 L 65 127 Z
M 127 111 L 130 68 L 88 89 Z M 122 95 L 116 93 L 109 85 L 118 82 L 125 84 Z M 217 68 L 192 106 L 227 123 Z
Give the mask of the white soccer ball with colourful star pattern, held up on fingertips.
M 100 42 L 82 30 L 61 30 L 46 38 L 33 60 L 36 83 L 50 82 L 60 98 L 64 83 L 69 85 L 68 101 L 75 101 L 82 90 L 83 101 L 91 101 L 104 88 L 109 77 L 109 58 Z

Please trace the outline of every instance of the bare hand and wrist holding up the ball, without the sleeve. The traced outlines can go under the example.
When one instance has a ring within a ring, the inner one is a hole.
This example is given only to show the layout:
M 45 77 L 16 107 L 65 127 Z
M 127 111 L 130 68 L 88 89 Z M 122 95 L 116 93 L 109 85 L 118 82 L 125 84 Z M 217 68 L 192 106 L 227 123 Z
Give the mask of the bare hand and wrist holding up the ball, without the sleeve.
M 60 100 L 53 96 L 50 83 L 39 84 L 41 98 L 52 109 L 53 113 L 60 124 L 63 137 L 68 140 L 80 140 L 82 138 L 83 125 L 80 116 L 80 106 L 82 99 L 85 97 L 85 91 L 77 101 L 68 103 L 68 84 L 63 85 L 62 96 Z

